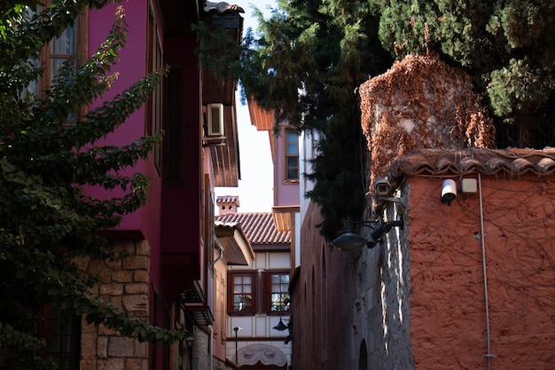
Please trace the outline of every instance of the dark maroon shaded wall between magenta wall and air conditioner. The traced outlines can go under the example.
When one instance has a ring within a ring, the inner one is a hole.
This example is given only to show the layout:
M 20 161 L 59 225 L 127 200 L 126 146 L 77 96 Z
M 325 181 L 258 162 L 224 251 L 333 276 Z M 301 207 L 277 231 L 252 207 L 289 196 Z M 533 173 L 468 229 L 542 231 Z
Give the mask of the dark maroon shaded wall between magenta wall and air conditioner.
M 182 94 L 182 148 L 185 176 L 182 182 L 162 188 L 162 245 L 164 279 L 171 283 L 168 299 L 192 287 L 192 281 L 200 279 L 201 256 L 201 80 L 199 65 L 193 51 L 196 39 L 193 35 L 170 38 L 166 42 L 165 61 L 172 68 L 182 70 L 184 88 Z

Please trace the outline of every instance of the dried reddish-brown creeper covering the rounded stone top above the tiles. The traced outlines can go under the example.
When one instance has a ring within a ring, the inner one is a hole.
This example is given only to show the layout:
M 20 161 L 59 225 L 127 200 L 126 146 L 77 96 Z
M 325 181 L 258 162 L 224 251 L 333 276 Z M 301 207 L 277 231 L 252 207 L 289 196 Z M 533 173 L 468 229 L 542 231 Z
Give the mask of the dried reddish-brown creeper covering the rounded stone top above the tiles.
M 371 192 L 395 159 L 416 149 L 495 147 L 495 127 L 470 76 L 438 56 L 409 55 L 360 86 Z

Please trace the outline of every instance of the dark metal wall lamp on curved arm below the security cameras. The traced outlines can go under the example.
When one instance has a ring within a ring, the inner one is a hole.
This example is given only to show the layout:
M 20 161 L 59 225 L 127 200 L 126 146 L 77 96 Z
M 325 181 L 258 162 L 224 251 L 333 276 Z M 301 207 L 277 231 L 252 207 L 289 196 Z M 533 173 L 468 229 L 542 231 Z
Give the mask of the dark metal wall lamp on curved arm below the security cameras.
M 367 222 L 361 222 L 360 224 L 371 227 Z M 347 252 L 356 252 L 357 250 L 361 250 L 364 246 L 367 248 L 374 248 L 376 244 L 379 243 L 379 240 L 382 240 L 387 232 L 391 231 L 394 227 L 400 227 L 401 230 L 403 230 L 403 217 L 401 217 L 400 220 L 387 221 L 386 223 L 379 224 L 378 227 L 371 231 L 370 239 L 366 239 L 353 232 L 350 222 L 348 222 L 343 233 L 338 238 L 332 240 L 332 245 Z

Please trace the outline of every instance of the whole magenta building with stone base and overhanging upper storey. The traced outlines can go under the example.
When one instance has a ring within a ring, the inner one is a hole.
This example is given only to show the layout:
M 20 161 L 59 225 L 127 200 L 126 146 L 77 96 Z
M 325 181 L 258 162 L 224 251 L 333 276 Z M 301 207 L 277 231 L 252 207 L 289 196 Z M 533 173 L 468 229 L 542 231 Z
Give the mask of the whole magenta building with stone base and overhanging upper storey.
M 116 6 L 82 16 L 86 32 L 78 48 L 96 51 Z M 145 106 L 102 144 L 129 144 L 160 130 L 164 139 L 147 160 L 129 169 L 151 179 L 146 205 L 106 232 L 113 248 L 127 250 L 129 258 L 118 263 L 85 258 L 80 264 L 99 276 L 96 294 L 155 326 L 186 331 L 186 340 L 168 347 L 149 345 L 83 321 L 79 368 L 233 368 L 213 331 L 215 261 L 220 256 L 214 187 L 238 185 L 237 86 L 199 67 L 193 28 L 199 22 L 228 28 L 239 43 L 243 10 L 196 0 L 134 0 L 121 6 L 129 25 L 127 45 L 113 68 L 118 78 L 104 98 L 154 69 L 168 66 L 169 72 Z M 90 193 L 104 196 L 94 188 Z

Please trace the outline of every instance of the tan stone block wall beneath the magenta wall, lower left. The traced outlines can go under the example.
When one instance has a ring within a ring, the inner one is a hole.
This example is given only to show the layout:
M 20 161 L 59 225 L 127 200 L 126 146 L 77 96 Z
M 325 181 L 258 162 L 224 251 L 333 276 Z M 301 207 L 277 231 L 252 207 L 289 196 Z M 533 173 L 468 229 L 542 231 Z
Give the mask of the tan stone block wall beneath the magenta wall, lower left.
M 99 282 L 95 295 L 123 311 L 148 319 L 150 246 L 146 240 L 129 240 L 113 244 L 129 256 L 118 261 L 84 257 L 77 264 Z M 121 337 L 106 327 L 88 325 L 82 319 L 81 370 L 147 370 L 148 343 Z

